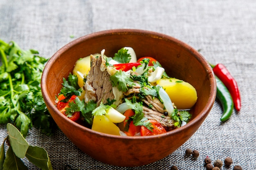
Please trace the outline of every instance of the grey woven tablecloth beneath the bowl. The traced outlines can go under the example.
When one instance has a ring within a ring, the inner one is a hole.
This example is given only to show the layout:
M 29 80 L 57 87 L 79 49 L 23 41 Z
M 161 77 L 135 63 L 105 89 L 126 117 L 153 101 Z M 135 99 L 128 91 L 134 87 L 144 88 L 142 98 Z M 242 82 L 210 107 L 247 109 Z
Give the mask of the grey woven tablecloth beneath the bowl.
M 240 88 L 242 109 L 221 123 L 222 107 L 216 100 L 202 126 L 185 144 L 160 161 L 133 168 L 92 159 L 61 130 L 47 137 L 32 128 L 27 141 L 47 150 L 54 170 L 67 166 L 80 170 L 170 170 L 173 165 L 179 170 L 205 170 L 207 156 L 213 161 L 231 157 L 233 164 L 222 170 L 233 170 L 234 165 L 256 170 L 255 0 L 0 1 L 0 39 L 13 40 L 22 49 L 36 49 L 46 58 L 75 38 L 118 28 L 171 35 L 200 50 L 212 64 L 225 64 Z M 6 136 L 6 126 L 1 125 L 0 141 Z M 185 156 L 186 148 L 199 150 L 200 156 Z M 38 169 L 26 159 L 24 162 L 29 169 Z

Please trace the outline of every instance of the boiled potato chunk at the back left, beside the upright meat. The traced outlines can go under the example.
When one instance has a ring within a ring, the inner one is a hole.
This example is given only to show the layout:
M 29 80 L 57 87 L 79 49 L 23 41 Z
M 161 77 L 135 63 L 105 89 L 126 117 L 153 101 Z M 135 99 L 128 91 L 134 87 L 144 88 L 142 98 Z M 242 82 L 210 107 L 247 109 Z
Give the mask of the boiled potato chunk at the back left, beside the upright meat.
M 83 75 L 86 75 L 89 73 L 91 68 L 91 60 L 90 56 L 80 58 L 76 61 L 76 64 L 73 69 L 73 75 L 76 75 L 78 77 L 78 85 L 82 87 L 84 85 L 83 82 Z

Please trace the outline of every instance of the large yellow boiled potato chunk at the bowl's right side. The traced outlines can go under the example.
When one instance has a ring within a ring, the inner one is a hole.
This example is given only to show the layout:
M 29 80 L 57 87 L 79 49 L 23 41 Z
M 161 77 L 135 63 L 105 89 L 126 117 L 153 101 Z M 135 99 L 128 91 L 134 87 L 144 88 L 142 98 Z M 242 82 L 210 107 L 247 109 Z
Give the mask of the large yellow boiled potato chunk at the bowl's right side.
M 177 109 L 190 109 L 197 101 L 198 97 L 195 88 L 180 79 L 159 79 L 157 84 L 165 89 Z

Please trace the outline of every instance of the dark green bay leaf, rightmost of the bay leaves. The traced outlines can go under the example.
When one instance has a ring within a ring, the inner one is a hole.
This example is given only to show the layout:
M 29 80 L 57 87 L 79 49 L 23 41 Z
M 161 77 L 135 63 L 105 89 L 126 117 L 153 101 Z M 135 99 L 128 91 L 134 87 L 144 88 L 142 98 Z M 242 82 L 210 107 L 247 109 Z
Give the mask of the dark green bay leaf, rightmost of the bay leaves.
M 26 153 L 27 159 L 42 170 L 52 170 L 52 164 L 44 148 L 29 146 Z

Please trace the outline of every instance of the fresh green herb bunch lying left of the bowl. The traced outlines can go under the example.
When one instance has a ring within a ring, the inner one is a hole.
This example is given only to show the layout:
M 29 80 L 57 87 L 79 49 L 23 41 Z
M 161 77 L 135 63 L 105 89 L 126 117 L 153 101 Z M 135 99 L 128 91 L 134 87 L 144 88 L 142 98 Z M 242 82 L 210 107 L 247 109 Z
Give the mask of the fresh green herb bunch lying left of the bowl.
M 50 135 L 56 124 L 40 88 L 47 59 L 38 56 L 38 51 L 25 51 L 13 41 L 2 40 L 0 57 L 0 124 L 14 124 L 24 137 L 33 125 Z

